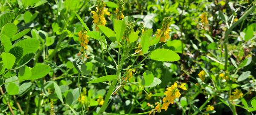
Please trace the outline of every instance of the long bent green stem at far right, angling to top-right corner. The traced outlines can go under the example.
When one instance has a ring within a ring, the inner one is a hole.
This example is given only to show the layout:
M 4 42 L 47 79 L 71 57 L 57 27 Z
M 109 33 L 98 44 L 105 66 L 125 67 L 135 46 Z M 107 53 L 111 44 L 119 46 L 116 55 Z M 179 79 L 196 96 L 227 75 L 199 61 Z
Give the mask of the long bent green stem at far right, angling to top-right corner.
M 246 19 L 246 17 L 255 9 L 255 5 L 253 5 L 252 7 L 250 7 L 250 9 L 248 9 L 240 18 L 239 20 L 237 20 L 236 23 L 233 23 L 232 26 L 230 26 L 229 29 L 227 29 L 227 31 L 225 32 L 224 35 L 224 49 L 225 49 L 225 71 L 227 71 L 227 61 L 228 61 L 228 49 L 227 49 L 227 44 L 228 44 L 228 35 L 230 34 L 230 32 L 232 32 L 232 30 L 239 24 L 241 23 L 244 19 Z

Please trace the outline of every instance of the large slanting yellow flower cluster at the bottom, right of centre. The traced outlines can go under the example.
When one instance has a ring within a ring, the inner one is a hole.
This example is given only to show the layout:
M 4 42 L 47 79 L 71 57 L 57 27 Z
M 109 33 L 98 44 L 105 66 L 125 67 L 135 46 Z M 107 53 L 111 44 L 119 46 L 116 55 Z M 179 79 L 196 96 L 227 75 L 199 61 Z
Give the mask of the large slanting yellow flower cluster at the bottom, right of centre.
M 165 109 L 165 111 L 166 111 L 168 109 L 168 106 L 170 104 L 174 103 L 175 98 L 180 98 L 181 94 L 180 94 L 180 90 L 178 88 L 187 90 L 185 85 L 186 85 L 186 83 L 181 83 L 181 85 L 178 86 L 178 84 L 175 82 L 174 85 L 172 85 L 171 87 L 168 87 L 167 91 L 164 92 L 166 97 L 163 98 L 163 104 L 157 102 L 157 103 L 155 103 L 155 105 L 157 105 L 155 108 L 154 108 L 154 106 L 152 106 L 151 104 L 148 103 L 148 106 L 151 106 L 152 108 L 154 108 L 153 110 L 151 110 L 149 115 L 151 115 L 152 112 L 154 114 L 155 114 L 155 112 L 161 112 L 161 109 Z

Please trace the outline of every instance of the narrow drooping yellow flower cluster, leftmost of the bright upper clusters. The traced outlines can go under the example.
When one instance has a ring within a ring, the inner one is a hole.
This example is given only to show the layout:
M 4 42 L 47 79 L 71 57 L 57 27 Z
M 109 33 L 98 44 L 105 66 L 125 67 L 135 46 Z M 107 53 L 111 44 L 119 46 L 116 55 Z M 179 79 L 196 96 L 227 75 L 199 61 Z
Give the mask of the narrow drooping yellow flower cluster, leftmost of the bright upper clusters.
M 87 44 L 89 42 L 89 36 L 87 35 L 87 31 L 85 30 L 78 32 L 78 36 L 78 40 L 80 41 L 80 45 L 82 46 L 80 52 L 84 52 L 84 49 L 88 49 Z

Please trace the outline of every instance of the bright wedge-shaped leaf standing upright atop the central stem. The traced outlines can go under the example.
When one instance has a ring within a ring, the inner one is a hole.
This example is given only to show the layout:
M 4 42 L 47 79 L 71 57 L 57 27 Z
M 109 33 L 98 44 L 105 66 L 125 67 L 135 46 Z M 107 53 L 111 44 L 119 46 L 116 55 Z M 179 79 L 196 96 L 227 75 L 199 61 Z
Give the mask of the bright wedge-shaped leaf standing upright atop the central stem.
M 125 21 L 124 20 L 113 20 L 114 31 L 116 32 L 116 41 L 120 42 L 122 40 L 122 35 L 125 32 Z

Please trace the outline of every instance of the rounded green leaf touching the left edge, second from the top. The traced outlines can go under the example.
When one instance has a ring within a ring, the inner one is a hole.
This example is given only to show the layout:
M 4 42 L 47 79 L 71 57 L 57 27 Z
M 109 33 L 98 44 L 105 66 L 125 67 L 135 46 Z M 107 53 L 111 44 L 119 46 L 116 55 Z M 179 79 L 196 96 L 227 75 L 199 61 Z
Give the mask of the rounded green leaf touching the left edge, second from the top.
M 18 28 L 15 24 L 7 23 L 1 29 L 1 35 L 6 35 L 7 37 L 12 38 L 15 35 L 15 33 L 17 32 L 17 30 L 18 30 Z

